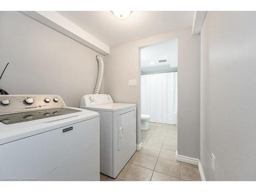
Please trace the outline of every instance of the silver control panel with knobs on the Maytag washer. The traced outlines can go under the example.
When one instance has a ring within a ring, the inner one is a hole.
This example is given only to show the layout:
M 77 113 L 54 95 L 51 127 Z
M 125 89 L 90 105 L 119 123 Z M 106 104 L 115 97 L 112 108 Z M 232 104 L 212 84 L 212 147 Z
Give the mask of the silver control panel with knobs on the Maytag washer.
M 0 95 L 0 101 L 1 114 L 66 106 L 58 95 Z

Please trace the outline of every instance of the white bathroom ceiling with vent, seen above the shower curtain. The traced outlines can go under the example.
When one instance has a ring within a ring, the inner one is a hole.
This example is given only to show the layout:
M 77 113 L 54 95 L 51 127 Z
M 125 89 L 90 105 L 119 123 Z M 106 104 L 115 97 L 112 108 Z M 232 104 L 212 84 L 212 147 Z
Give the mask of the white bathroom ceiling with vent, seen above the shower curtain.
M 166 62 L 159 60 L 166 59 Z M 178 67 L 178 39 L 146 46 L 140 50 L 141 71 L 167 72 Z

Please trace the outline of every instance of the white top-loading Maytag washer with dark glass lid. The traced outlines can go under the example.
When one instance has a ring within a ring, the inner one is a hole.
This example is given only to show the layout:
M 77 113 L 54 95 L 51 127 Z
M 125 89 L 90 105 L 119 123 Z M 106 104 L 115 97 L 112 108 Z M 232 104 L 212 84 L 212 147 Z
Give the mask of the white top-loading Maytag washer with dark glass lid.
M 0 96 L 1 180 L 99 181 L 99 114 L 57 95 Z

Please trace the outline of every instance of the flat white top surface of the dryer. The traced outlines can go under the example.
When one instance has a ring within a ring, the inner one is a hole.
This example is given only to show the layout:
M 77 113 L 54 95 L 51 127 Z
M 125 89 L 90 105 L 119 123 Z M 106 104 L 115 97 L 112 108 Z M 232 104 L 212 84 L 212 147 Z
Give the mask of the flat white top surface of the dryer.
M 109 103 L 109 104 L 101 104 L 94 106 L 83 107 L 84 109 L 92 110 L 92 111 L 108 111 L 108 112 L 117 112 L 129 108 L 133 108 L 136 104 L 131 103 Z

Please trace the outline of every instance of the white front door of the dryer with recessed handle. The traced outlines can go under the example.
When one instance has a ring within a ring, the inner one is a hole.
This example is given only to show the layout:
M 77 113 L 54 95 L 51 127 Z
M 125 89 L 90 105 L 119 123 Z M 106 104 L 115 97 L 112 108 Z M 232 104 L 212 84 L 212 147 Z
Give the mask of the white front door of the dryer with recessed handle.
M 136 134 L 135 111 L 118 116 L 118 151 L 120 151 Z

